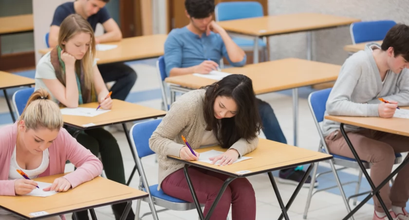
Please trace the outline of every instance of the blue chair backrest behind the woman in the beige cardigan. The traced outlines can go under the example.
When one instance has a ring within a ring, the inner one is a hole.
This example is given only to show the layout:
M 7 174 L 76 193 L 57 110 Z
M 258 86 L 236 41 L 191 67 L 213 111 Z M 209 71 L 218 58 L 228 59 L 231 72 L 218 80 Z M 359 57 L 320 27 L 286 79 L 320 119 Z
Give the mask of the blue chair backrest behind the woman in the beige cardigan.
M 149 138 L 161 121 L 162 119 L 160 118 L 140 122 L 130 128 L 130 140 L 133 146 L 132 150 L 134 150 L 137 158 L 143 158 L 155 153 L 149 148 Z

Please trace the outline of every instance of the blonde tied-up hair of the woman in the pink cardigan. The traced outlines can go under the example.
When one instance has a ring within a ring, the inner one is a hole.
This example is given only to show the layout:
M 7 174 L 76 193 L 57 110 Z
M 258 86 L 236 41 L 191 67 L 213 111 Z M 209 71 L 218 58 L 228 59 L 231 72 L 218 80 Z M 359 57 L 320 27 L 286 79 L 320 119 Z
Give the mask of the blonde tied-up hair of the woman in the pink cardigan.
M 28 129 L 60 129 L 64 124 L 62 114 L 58 105 L 50 99 L 51 95 L 46 90 L 35 91 L 28 99 L 19 122 L 23 120 Z

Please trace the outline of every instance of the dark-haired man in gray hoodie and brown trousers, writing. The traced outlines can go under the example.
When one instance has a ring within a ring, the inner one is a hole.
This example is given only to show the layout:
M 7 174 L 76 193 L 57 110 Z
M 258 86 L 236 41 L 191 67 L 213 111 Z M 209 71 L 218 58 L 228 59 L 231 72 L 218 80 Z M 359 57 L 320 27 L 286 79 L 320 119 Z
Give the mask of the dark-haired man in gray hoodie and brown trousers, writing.
M 382 45 L 369 43 L 364 51 L 345 61 L 328 98 L 325 114 L 393 117 L 395 111 L 399 111 L 398 106 L 409 106 L 408 60 L 409 26 L 397 24 L 387 33 Z M 409 137 L 347 125 L 344 128 L 359 157 L 372 163 L 370 175 L 375 186 L 392 171 L 395 152 L 409 151 Z M 324 119 L 322 130 L 332 153 L 354 158 L 339 132 L 339 123 Z M 409 166 L 406 166 L 391 188 L 386 184 L 380 190 L 382 200 L 396 220 L 409 220 L 405 210 L 409 199 L 408 182 Z M 388 219 L 379 201 L 373 199 L 373 220 Z

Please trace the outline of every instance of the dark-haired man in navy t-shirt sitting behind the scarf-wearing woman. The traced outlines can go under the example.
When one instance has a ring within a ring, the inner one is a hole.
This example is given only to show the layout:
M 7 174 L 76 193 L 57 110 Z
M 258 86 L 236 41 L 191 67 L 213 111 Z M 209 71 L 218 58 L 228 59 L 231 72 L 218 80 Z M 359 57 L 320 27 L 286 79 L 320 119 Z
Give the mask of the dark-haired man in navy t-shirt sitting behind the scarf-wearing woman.
M 64 18 L 71 14 L 79 14 L 87 19 L 94 31 L 97 23 L 102 24 L 105 33 L 95 37 L 96 44 L 121 40 L 121 30 L 105 8 L 108 2 L 109 0 L 76 0 L 59 5 L 50 27 L 48 39 L 50 47 L 58 44 L 59 26 Z M 111 88 L 112 99 L 125 100 L 136 82 L 135 71 L 125 63 L 101 64 L 98 65 L 98 69 L 104 82 L 116 82 Z

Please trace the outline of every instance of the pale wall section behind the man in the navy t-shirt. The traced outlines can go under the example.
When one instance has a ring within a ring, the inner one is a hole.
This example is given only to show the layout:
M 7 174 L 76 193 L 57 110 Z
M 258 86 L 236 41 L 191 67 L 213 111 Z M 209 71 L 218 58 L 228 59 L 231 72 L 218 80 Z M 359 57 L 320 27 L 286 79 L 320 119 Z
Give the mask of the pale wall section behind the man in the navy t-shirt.
M 53 21 L 54 11 L 57 6 L 74 0 L 33 0 L 33 17 L 34 17 L 34 49 L 36 51 L 36 63 L 41 58 L 38 50 L 46 48 L 44 35 L 50 31 L 50 24 Z M 103 28 L 98 24 L 95 35 L 101 35 Z

